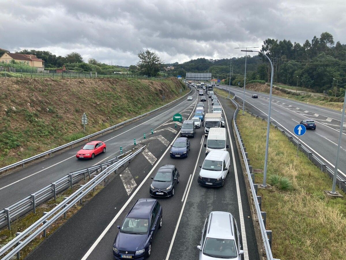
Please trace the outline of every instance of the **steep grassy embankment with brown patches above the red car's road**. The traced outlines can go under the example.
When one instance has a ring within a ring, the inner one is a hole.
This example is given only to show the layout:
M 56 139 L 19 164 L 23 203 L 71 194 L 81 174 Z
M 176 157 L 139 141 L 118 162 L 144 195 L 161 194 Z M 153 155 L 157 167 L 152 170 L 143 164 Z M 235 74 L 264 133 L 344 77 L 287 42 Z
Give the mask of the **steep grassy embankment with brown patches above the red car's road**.
M 0 167 L 151 111 L 184 89 L 176 78 L 1 78 Z

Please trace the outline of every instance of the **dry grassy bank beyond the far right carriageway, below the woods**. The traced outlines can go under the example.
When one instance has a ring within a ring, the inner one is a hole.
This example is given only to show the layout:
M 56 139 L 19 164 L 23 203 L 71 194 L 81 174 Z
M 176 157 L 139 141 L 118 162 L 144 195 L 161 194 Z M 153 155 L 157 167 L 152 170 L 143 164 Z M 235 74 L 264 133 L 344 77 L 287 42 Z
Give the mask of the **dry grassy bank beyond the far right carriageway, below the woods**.
M 281 87 L 281 86 L 280 86 Z M 269 93 L 270 86 L 261 83 L 251 83 L 247 84 L 246 88 L 249 90 L 254 90 L 257 92 Z M 281 96 L 284 98 L 289 98 L 293 100 L 297 100 L 300 102 L 319 105 L 328 107 L 330 109 L 335 109 L 341 111 L 344 99 L 339 97 L 324 97 L 324 96 L 312 96 L 311 94 L 303 94 L 303 93 L 294 93 L 289 90 L 280 89 L 277 87 L 273 87 L 272 94 L 276 96 Z

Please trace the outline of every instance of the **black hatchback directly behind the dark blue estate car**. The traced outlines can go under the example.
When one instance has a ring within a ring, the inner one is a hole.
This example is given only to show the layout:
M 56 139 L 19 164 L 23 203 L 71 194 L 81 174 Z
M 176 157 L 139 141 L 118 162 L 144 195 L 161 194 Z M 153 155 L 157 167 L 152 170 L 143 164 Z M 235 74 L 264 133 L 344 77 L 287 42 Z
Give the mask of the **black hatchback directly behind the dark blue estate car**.
M 152 178 L 149 193 L 156 197 L 174 196 L 174 188 L 179 183 L 179 171 L 174 165 L 162 165 Z

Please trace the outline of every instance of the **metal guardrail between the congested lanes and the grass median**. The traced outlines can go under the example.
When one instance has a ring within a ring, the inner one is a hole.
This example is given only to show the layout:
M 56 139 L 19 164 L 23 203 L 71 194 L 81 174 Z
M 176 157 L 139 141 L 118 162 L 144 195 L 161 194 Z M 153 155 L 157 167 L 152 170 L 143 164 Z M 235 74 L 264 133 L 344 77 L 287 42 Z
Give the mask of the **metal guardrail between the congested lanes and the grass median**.
M 252 170 L 252 166 L 249 166 L 249 159 L 247 158 L 247 155 L 245 154 L 244 143 L 243 143 L 243 140 L 242 140 L 241 135 L 239 133 L 239 128 L 238 128 L 237 122 L 236 122 L 236 118 L 237 118 L 237 115 L 239 112 L 238 104 L 234 101 L 236 95 L 233 92 L 230 92 L 230 93 L 234 96 L 233 98 L 228 98 L 225 96 L 221 96 L 219 94 L 217 94 L 217 96 L 220 96 L 220 97 L 225 98 L 225 99 L 229 99 L 236 106 L 236 111 L 234 112 L 234 116 L 233 116 L 233 124 L 234 124 L 235 130 L 236 130 L 240 149 L 242 150 L 242 155 L 243 155 L 243 159 L 244 159 L 246 173 L 247 173 L 247 177 L 248 177 L 248 180 L 250 183 L 250 190 L 251 190 L 252 198 L 253 198 L 253 201 L 255 204 L 256 215 L 257 215 L 258 223 L 259 223 L 260 229 L 261 229 L 262 240 L 263 240 L 263 245 L 264 245 L 266 257 L 269 260 L 275 260 L 275 258 L 273 258 L 272 249 L 271 249 L 272 231 L 266 230 L 266 228 L 265 228 L 266 212 L 263 212 L 261 210 L 261 201 L 262 200 L 261 200 L 260 196 L 257 196 L 257 184 L 254 184 L 254 179 L 253 179 L 251 172 L 250 172 L 250 168 Z

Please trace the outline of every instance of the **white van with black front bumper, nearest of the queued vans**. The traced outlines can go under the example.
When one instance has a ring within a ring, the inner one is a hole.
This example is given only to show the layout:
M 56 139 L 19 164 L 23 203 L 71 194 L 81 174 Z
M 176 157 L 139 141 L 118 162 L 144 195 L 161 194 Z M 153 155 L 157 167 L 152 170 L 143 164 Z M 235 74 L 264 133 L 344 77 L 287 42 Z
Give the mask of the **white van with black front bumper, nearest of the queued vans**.
M 199 167 L 198 184 L 220 187 L 225 185 L 231 160 L 228 151 L 212 150 Z

